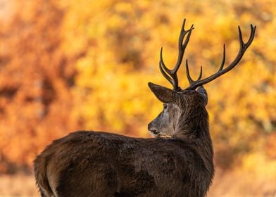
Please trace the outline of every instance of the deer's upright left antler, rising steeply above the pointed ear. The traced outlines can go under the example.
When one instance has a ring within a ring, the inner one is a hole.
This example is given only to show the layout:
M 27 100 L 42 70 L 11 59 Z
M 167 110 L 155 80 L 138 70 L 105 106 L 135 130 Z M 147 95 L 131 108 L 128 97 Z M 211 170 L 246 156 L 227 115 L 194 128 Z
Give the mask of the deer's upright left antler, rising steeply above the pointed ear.
M 192 25 L 192 27 L 189 28 L 189 30 L 184 30 L 185 22 L 186 22 L 186 19 L 184 19 L 181 27 L 181 31 L 180 31 L 180 38 L 178 42 L 178 58 L 177 58 L 177 63 L 175 63 L 175 68 L 170 70 L 165 66 L 165 63 L 163 62 L 163 56 L 162 56 L 163 47 L 161 48 L 161 51 L 160 51 L 159 68 L 161 70 L 162 75 L 172 84 L 172 87 L 175 91 L 181 90 L 180 87 L 178 86 L 177 70 L 180 68 L 180 65 L 182 63 L 182 58 L 184 56 L 184 51 L 189 42 L 189 37 L 191 36 L 192 30 L 194 29 L 194 25 Z M 183 43 L 183 40 L 186 34 L 187 34 L 187 37 Z

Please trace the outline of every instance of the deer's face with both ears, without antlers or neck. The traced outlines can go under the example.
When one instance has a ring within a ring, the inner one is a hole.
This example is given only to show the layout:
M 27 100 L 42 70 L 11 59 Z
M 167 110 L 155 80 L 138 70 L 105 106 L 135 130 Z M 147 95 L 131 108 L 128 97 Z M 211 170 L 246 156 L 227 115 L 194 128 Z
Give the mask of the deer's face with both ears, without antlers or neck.
M 149 87 L 163 102 L 163 111 L 148 125 L 153 136 L 173 136 L 183 118 L 193 111 L 205 108 L 208 102 L 208 96 L 203 87 L 183 91 L 174 91 L 152 83 L 149 83 Z

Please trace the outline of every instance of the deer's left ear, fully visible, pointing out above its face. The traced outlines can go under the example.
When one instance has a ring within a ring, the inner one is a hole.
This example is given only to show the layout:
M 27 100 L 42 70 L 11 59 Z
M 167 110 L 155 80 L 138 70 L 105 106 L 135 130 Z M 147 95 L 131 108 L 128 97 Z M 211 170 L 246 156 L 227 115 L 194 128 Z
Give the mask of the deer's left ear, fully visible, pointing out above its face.
M 149 82 L 149 88 L 159 101 L 163 103 L 177 103 L 178 96 L 175 91 L 151 82 Z

